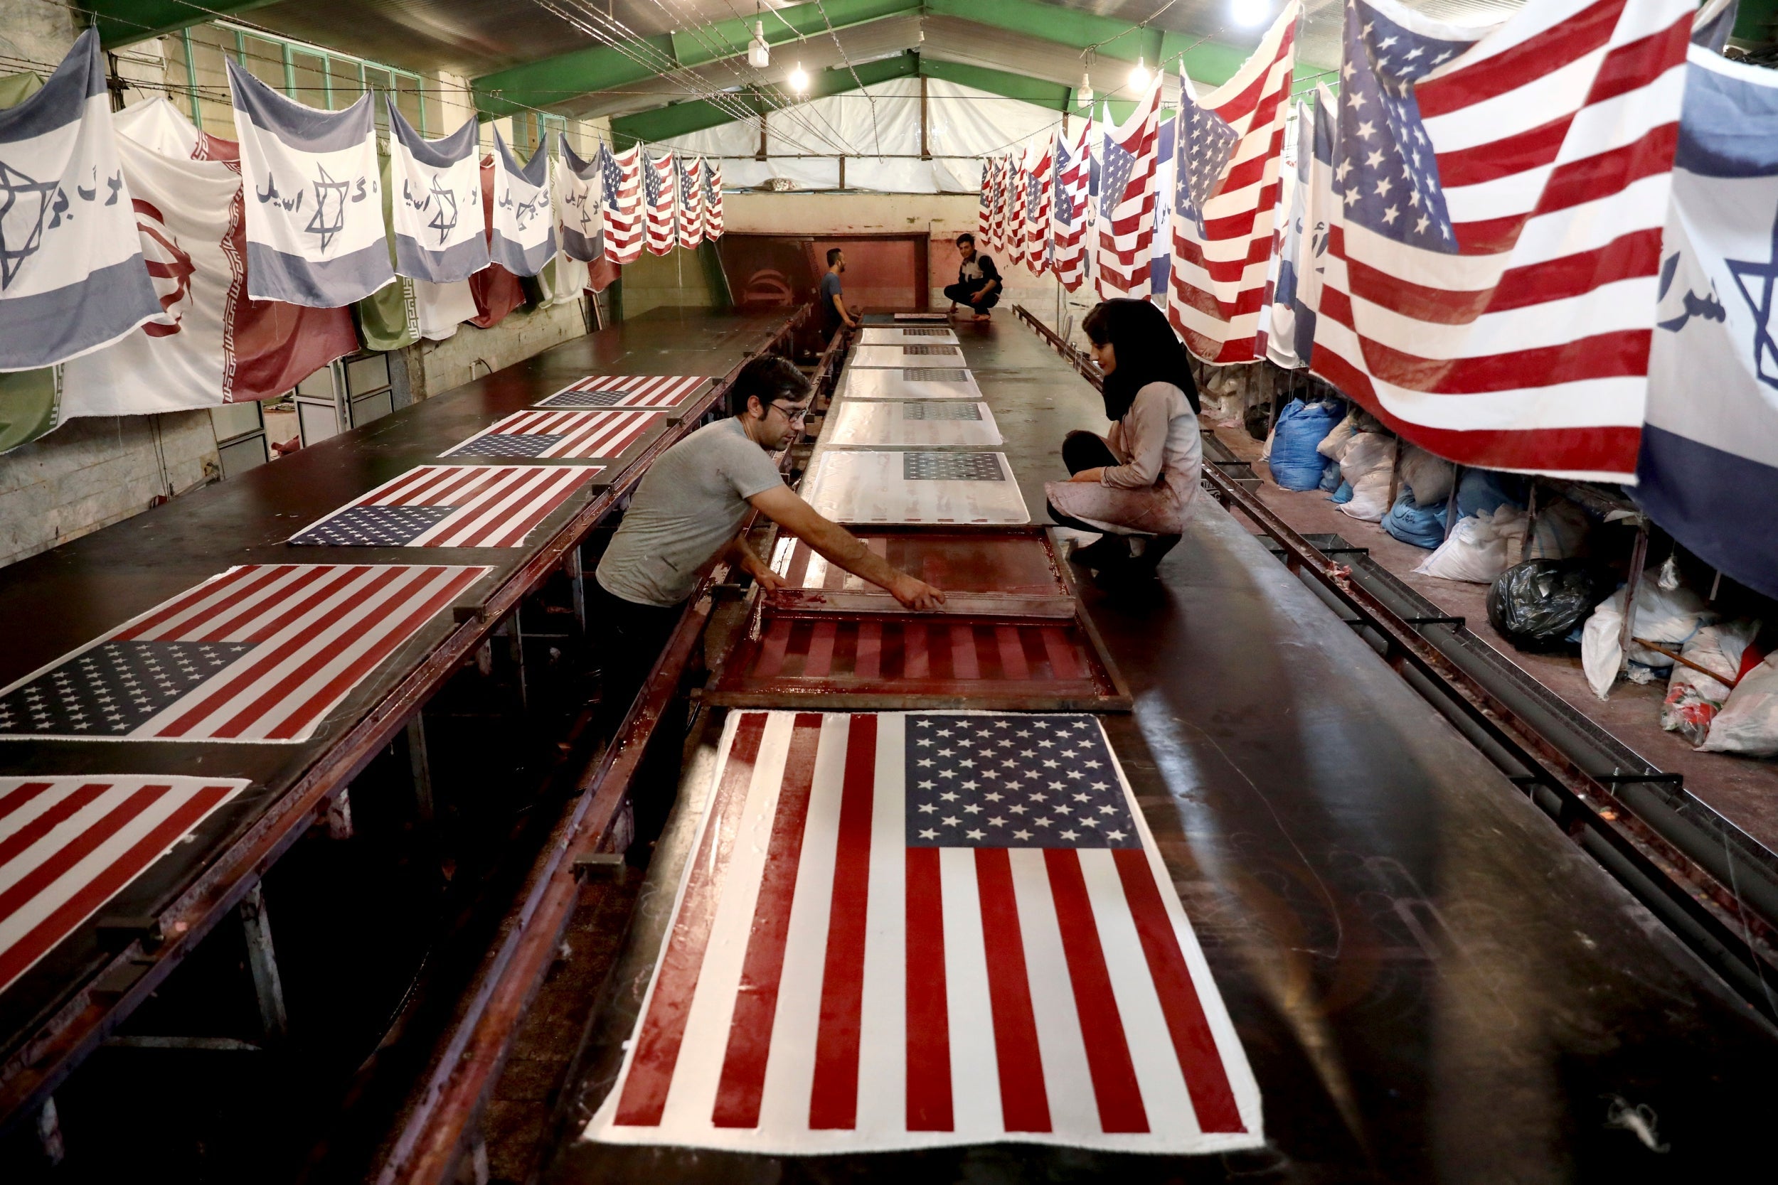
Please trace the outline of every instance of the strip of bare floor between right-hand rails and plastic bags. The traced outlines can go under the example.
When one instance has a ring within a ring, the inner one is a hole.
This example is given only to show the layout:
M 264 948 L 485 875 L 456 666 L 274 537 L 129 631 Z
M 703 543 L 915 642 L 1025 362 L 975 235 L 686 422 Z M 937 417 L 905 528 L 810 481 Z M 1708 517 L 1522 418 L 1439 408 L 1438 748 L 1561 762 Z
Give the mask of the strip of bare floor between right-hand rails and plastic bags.
M 1218 428 L 1216 437 L 1239 457 L 1259 457 L 1259 444 L 1239 428 Z M 1255 462 L 1253 471 L 1269 476 L 1264 462 Z M 1586 684 L 1579 654 L 1520 654 L 1494 631 L 1488 624 L 1486 585 L 1415 576 L 1414 569 L 1431 554 L 1430 551 L 1403 544 L 1378 522 L 1360 522 L 1341 513 L 1321 490 L 1282 490 L 1268 480 L 1261 487 L 1261 499 L 1298 531 L 1337 533 L 1357 547 L 1369 547 L 1373 560 L 1414 586 L 1417 593 L 1446 613 L 1465 618 L 1478 638 L 1650 762 L 1686 775 L 1687 791 L 1760 844 L 1778 851 L 1778 762 L 1700 753 L 1677 732 L 1662 732 L 1664 679 L 1652 684 L 1620 679 L 1611 698 L 1600 700 Z

